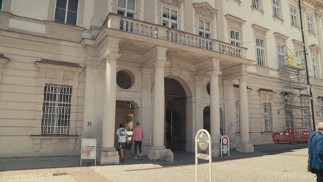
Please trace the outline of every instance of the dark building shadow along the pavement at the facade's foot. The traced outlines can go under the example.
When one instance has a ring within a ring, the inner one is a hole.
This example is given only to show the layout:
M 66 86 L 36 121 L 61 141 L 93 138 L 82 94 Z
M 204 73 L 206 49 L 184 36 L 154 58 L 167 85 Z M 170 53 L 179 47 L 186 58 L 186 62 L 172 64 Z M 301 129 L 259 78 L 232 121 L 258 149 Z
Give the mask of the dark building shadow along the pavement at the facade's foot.
M 255 152 L 241 153 L 235 149 L 231 149 L 230 156 L 213 157 L 213 162 L 221 162 L 235 159 L 246 159 L 250 157 L 265 156 L 272 154 L 280 154 L 284 152 L 292 152 L 293 150 L 307 148 L 306 143 L 295 144 L 268 144 L 268 145 L 255 145 Z M 307 157 L 307 155 L 304 155 Z M 164 161 L 150 161 L 145 156 L 142 161 L 134 159 L 133 156 L 126 156 L 124 162 L 120 165 L 138 165 L 138 164 L 156 164 L 162 167 L 178 166 L 178 165 L 194 165 L 195 154 L 187 154 L 185 152 L 174 152 L 173 163 Z M 199 163 L 208 163 L 208 161 L 199 160 Z M 93 166 L 94 161 L 82 160 L 82 167 Z M 79 156 L 46 156 L 46 157 L 11 157 L 0 158 L 0 172 L 10 170 L 35 170 L 45 168 L 68 168 L 80 167 Z

